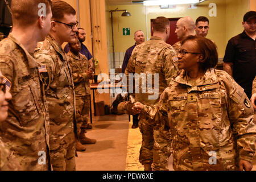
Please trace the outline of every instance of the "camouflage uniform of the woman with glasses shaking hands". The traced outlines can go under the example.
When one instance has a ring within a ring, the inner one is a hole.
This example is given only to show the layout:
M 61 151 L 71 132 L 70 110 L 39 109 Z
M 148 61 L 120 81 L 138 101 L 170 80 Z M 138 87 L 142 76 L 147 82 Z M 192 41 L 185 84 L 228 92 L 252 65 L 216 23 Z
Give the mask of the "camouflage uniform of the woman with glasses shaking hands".
M 253 107 L 224 71 L 208 69 L 196 81 L 183 71 L 164 90 L 159 105 L 145 106 L 143 113 L 160 121 L 167 113 L 175 170 L 235 170 L 237 159 L 253 159 Z

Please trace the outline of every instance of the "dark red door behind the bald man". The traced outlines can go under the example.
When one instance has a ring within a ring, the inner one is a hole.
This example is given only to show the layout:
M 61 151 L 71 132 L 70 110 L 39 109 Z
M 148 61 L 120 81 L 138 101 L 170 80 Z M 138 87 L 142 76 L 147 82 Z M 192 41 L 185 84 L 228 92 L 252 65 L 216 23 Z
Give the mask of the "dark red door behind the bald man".
M 170 37 L 169 39 L 166 41 L 166 43 L 174 45 L 176 42 L 180 41 L 179 39 L 177 39 L 177 35 L 175 34 L 175 30 L 176 30 L 176 23 L 177 20 L 180 18 L 168 18 L 169 22 L 170 22 Z M 152 31 L 152 27 L 153 27 L 153 20 L 151 19 L 151 36 L 153 35 L 153 31 Z

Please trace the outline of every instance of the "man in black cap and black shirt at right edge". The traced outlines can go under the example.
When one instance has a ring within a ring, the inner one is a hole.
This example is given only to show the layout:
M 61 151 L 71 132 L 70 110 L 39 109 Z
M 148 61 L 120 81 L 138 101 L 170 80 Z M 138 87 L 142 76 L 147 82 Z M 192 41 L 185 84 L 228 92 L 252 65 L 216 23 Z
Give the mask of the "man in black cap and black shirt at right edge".
M 233 76 L 250 98 L 256 75 L 256 11 L 249 11 L 243 16 L 242 26 L 242 34 L 229 40 L 223 61 L 224 70 Z

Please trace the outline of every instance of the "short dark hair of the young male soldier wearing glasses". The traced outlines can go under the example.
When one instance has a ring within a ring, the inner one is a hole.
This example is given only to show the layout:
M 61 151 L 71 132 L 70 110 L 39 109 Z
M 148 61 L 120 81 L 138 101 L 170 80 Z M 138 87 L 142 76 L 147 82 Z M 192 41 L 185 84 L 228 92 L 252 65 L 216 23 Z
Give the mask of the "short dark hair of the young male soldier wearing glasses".
M 53 0 L 52 1 L 52 19 L 61 20 L 64 18 L 65 14 L 76 15 L 76 10 L 73 9 L 73 7 L 69 5 L 67 2 L 60 1 L 60 0 Z

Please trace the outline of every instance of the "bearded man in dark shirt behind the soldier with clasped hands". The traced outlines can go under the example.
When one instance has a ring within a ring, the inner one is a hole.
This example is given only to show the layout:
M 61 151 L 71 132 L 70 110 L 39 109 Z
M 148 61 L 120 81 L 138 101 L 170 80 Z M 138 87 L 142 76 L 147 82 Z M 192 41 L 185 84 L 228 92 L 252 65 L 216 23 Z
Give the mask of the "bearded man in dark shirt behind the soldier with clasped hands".
M 78 38 L 79 38 L 79 41 L 80 41 L 81 47 L 82 47 L 80 53 L 81 53 L 82 55 L 85 55 L 85 56 L 86 56 L 86 58 L 89 60 L 89 63 L 90 63 L 90 65 L 91 65 L 91 67 L 94 68 L 93 65 L 92 65 L 92 64 L 93 64 L 93 63 L 92 63 L 92 55 L 90 54 L 88 48 L 83 44 L 83 42 L 85 42 L 85 38 L 86 38 L 85 35 L 86 35 L 86 34 L 85 34 L 84 28 L 78 28 L 77 36 L 78 36 Z M 70 46 L 69 46 L 69 43 L 68 43 L 68 44 L 65 46 L 64 51 L 65 51 L 65 53 L 68 53 L 69 50 L 70 50 Z

